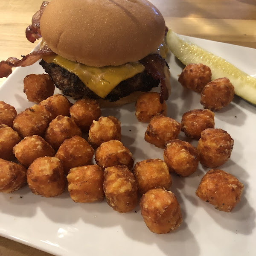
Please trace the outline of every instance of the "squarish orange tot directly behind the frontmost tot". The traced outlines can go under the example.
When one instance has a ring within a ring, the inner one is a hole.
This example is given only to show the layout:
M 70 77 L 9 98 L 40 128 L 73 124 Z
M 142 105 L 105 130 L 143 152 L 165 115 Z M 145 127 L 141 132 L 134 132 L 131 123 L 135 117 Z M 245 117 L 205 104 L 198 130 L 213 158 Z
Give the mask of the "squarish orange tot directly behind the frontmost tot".
M 163 160 L 147 159 L 137 162 L 133 173 L 136 177 L 138 191 L 141 195 L 149 189 L 161 187 L 169 189 L 172 185 L 172 177 L 169 174 L 168 167 Z

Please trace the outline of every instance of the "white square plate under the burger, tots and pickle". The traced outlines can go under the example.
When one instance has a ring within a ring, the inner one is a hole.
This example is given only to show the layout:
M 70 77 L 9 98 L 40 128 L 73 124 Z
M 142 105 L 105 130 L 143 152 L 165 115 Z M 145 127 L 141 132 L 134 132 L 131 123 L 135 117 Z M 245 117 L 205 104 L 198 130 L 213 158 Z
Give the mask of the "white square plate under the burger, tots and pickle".
M 189 40 L 256 77 L 256 49 L 198 38 Z M 172 94 L 167 101 L 167 113 L 180 122 L 184 112 L 202 108 L 200 96 L 184 91 L 178 84 L 182 65 L 173 55 L 168 63 Z M 15 106 L 18 113 L 33 105 L 23 93 L 23 79 L 30 73 L 44 73 L 44 70 L 38 63 L 19 67 L 0 87 L 0 100 Z M 129 104 L 104 109 L 102 115 L 113 115 L 121 121 L 122 142 L 131 150 L 135 162 L 163 159 L 162 149 L 145 142 L 147 125 L 137 122 L 134 112 L 134 104 Z M 173 233 L 151 233 L 139 207 L 120 214 L 106 201 L 74 203 L 67 190 L 61 196 L 43 198 L 24 187 L 0 195 L 0 235 L 59 256 L 253 256 L 256 253 L 256 107 L 235 96 L 229 106 L 215 113 L 215 128 L 226 130 L 234 139 L 231 158 L 220 168 L 244 183 L 241 202 L 233 212 L 220 212 L 196 197 L 195 190 L 209 170 L 199 164 L 197 172 L 190 177 L 172 175 L 170 190 L 177 196 L 183 214 L 182 225 Z M 188 140 L 183 133 L 179 138 Z M 197 145 L 197 141 L 189 141 Z

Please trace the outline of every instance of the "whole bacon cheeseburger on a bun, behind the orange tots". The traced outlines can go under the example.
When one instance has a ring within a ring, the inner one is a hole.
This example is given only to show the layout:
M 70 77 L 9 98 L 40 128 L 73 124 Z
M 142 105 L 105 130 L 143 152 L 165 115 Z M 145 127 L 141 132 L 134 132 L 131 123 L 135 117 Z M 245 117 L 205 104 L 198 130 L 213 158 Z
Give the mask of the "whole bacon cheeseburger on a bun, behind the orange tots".
M 160 101 L 168 98 L 165 33 L 163 16 L 147 0 L 43 2 L 26 29 L 29 41 L 42 36 L 41 49 L 29 55 L 42 58 L 40 65 L 64 95 L 103 105 L 134 102 L 159 84 Z M 29 55 L 1 64 L 32 64 Z

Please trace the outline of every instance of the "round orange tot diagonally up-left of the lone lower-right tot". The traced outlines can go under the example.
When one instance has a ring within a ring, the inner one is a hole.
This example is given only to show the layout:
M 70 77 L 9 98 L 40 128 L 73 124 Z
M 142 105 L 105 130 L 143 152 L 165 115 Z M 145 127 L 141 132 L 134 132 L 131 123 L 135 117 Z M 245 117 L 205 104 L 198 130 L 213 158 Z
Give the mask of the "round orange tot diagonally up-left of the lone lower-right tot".
M 163 151 L 163 160 L 170 172 L 186 177 L 198 167 L 198 152 L 190 143 L 183 140 L 171 140 Z

